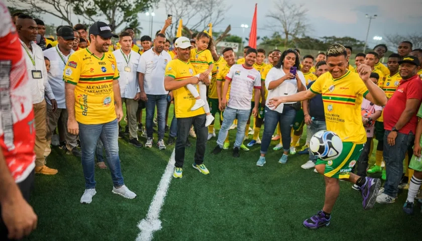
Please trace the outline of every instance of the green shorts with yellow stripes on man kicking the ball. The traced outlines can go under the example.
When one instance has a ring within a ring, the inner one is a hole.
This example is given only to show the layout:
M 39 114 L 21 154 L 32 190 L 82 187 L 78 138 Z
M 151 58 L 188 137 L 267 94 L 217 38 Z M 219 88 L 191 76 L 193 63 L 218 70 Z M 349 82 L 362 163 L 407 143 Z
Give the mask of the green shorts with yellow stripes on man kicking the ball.
M 337 179 L 347 179 L 362 152 L 363 144 L 343 142 L 343 151 L 340 156 L 331 161 L 316 160 L 315 165 L 325 164 L 324 175 Z

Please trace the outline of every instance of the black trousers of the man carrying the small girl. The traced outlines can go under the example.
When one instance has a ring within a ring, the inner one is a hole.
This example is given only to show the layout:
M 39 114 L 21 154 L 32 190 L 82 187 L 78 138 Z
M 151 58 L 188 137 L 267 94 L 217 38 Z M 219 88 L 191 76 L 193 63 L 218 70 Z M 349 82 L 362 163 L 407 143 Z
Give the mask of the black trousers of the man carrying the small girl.
M 175 167 L 183 167 L 186 139 L 192 125 L 196 134 L 194 162 L 198 165 L 203 163 L 206 139 L 208 137 L 208 128 L 205 127 L 205 114 L 187 118 L 177 118 L 177 141 L 174 151 L 176 160 Z

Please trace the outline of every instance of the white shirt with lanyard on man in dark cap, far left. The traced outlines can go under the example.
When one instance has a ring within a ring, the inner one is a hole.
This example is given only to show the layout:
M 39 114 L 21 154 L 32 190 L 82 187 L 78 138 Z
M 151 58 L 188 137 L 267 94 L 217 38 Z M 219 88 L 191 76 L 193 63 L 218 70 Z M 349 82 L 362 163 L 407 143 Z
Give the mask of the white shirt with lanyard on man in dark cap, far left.
M 58 45 L 53 48 L 44 50 L 43 54 L 50 60 L 50 72 L 48 72 L 48 83 L 51 86 L 54 97 L 57 101 L 57 107 L 60 109 L 66 108 L 66 99 L 64 97 L 64 81 L 63 71 L 70 55 L 75 51 L 70 50 L 70 54 L 65 56 L 59 49 Z M 51 104 L 50 100 L 46 98 L 47 103 Z

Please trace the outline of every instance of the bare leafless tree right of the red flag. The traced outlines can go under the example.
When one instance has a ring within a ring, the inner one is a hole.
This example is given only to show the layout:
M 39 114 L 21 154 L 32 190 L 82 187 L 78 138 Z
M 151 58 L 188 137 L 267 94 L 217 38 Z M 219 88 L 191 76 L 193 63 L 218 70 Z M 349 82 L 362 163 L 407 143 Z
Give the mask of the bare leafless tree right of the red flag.
M 307 24 L 307 9 L 304 4 L 295 4 L 285 0 L 278 0 L 273 10 L 266 17 L 270 18 L 269 28 L 275 31 L 281 30 L 284 37 L 284 47 L 287 47 L 289 40 L 295 40 L 304 35 L 309 29 Z

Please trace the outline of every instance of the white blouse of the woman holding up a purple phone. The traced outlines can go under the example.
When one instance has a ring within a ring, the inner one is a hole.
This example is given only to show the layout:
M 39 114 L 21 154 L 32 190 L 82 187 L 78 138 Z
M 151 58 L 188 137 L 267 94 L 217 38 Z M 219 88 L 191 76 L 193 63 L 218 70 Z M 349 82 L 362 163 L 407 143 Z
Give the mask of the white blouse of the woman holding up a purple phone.
M 267 77 L 265 78 L 265 87 L 268 89 L 268 86 L 270 85 L 271 81 L 277 80 L 283 77 L 284 75 L 286 74 L 284 73 L 282 68 L 277 69 L 275 67 L 272 67 L 270 71 L 268 71 Z M 302 71 L 298 70 L 297 75 L 299 75 L 300 82 L 302 82 L 303 86 L 305 86 L 306 88 L 305 76 L 303 75 Z M 283 83 L 281 83 L 274 89 L 268 90 L 268 97 L 265 102 L 265 105 L 268 106 L 268 101 L 273 97 L 289 96 L 295 93 L 297 93 L 297 80 L 296 79 L 284 80 Z M 296 102 L 288 102 L 285 104 L 293 104 L 293 103 L 296 103 Z M 284 107 L 284 104 L 280 104 L 277 106 L 275 111 L 282 113 L 283 107 Z

